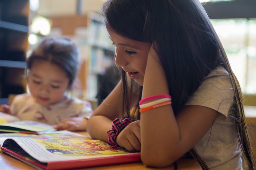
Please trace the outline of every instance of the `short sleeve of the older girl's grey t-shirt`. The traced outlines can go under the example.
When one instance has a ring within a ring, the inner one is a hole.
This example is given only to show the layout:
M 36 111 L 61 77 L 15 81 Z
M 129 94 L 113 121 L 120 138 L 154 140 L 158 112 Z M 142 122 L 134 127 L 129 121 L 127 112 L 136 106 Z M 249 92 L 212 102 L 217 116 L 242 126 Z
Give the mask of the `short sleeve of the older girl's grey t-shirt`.
M 206 77 L 185 105 L 208 107 L 227 118 L 233 98 L 234 91 L 229 73 L 223 67 L 218 67 Z

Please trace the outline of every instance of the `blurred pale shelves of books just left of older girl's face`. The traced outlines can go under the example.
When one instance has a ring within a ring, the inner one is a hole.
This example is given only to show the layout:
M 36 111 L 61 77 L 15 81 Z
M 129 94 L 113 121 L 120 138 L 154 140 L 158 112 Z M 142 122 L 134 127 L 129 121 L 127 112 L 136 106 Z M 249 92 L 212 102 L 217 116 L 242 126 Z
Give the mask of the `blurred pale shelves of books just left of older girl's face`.
M 114 47 L 109 38 L 102 16 L 88 14 L 88 75 L 87 98 L 95 98 L 99 81 L 114 63 Z

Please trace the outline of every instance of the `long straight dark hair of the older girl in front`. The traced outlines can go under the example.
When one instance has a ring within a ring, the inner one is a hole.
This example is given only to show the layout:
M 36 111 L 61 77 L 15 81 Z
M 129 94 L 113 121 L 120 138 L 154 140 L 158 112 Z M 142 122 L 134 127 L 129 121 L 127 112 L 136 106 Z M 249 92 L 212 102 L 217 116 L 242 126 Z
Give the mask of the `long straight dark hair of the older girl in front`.
M 101 9 L 108 29 L 120 36 L 154 43 L 165 71 L 174 114 L 199 88 L 216 67 L 224 67 L 234 90 L 236 130 L 243 158 L 254 169 L 253 154 L 247 134 L 242 94 L 231 70 L 224 48 L 204 8 L 198 0 L 107 0 Z M 126 74 L 122 71 L 124 112 L 130 116 Z M 141 93 L 141 92 L 140 92 Z M 138 98 L 138 101 L 140 100 Z M 138 107 L 138 105 L 137 105 Z M 138 111 L 138 109 L 137 109 Z M 138 114 L 138 119 L 139 119 Z M 123 115 L 124 116 L 124 115 Z M 209 169 L 195 149 L 190 154 Z

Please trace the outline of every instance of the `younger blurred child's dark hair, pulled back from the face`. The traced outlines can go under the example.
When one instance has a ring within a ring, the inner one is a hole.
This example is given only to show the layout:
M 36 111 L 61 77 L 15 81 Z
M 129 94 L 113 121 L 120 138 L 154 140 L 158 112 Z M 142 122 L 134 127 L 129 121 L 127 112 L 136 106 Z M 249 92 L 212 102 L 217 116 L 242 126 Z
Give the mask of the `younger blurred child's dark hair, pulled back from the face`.
M 79 51 L 75 42 L 68 37 L 45 37 L 28 55 L 26 75 L 34 60 L 49 61 L 66 71 L 69 78 L 69 88 L 74 82 L 79 69 Z

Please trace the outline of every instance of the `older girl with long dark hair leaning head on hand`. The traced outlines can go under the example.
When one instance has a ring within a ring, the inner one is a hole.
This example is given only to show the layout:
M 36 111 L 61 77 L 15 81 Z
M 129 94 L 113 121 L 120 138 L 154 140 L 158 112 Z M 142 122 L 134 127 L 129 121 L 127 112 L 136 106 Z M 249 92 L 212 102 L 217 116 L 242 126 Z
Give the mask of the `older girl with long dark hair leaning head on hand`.
M 204 170 L 242 170 L 242 158 L 254 169 L 241 89 L 200 2 L 107 0 L 101 12 L 122 81 L 89 119 L 90 135 L 141 151 L 147 166 L 189 152 Z

